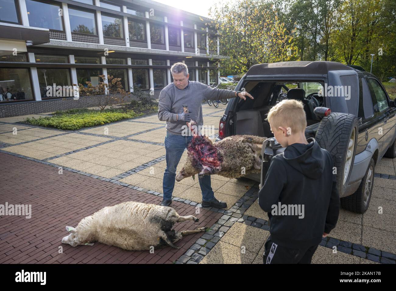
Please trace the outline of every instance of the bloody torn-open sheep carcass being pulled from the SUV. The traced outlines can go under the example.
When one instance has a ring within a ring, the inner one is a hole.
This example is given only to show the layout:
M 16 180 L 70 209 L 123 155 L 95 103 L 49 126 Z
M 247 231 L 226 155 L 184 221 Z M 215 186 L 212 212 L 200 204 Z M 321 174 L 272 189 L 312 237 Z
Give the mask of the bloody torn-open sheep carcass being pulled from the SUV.
M 176 181 L 198 174 L 239 178 L 248 173 L 260 173 L 261 148 L 266 137 L 233 135 L 217 143 L 208 136 L 193 136 L 187 146 L 187 160 Z

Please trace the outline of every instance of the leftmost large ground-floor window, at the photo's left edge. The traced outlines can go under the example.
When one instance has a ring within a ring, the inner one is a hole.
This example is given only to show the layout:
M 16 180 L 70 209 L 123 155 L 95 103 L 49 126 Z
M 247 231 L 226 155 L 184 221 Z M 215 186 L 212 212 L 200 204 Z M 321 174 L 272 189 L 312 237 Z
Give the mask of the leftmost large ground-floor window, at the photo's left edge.
M 0 102 L 33 100 L 27 68 L 0 68 Z

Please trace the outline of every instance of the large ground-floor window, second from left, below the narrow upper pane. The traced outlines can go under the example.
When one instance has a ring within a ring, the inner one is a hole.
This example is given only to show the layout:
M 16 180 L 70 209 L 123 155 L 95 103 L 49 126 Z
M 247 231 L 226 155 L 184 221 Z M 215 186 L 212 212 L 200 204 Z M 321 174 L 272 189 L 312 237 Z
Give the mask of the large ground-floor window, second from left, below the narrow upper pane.
M 70 89 L 68 90 L 67 88 L 63 87 L 63 86 L 69 87 L 72 85 L 70 81 L 69 69 L 37 68 L 37 74 L 38 74 L 38 84 L 40 86 L 40 94 L 42 99 L 72 96 L 72 94 L 70 94 Z M 50 86 L 51 89 L 49 88 L 47 89 L 47 86 Z M 59 93 L 62 92 L 62 96 L 56 96 L 56 94 L 54 96 L 53 94 L 54 86 L 55 86 L 55 91 Z M 62 91 L 59 91 L 57 89 L 58 86 L 62 86 Z

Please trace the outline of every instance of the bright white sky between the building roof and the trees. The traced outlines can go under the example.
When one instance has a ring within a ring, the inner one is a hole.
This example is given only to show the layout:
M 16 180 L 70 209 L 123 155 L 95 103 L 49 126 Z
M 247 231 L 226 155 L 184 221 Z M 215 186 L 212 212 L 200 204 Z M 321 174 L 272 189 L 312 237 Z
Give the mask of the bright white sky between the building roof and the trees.
M 177 0 L 154 0 L 162 4 L 166 4 L 180 10 L 188 11 L 200 16 L 208 17 L 209 8 L 214 6 L 215 3 L 219 1 L 214 0 L 187 0 L 187 1 L 177 1 Z M 228 2 L 230 0 L 220 0 L 220 3 Z

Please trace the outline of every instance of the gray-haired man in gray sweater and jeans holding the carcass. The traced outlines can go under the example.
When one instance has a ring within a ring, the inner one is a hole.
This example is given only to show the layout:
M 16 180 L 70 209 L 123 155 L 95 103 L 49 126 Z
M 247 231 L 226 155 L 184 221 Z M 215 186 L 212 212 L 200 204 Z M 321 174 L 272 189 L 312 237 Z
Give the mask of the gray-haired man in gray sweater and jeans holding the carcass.
M 162 89 L 158 101 L 158 118 L 166 121 L 166 169 L 162 188 L 164 198 L 160 205 L 169 206 L 175 186 L 176 167 L 192 136 L 185 135 L 186 122 L 194 120 L 202 126 L 202 102 L 246 96 L 253 99 L 247 92 L 211 88 L 196 81 L 189 81 L 188 68 L 184 63 L 175 63 L 171 67 L 173 83 Z M 188 113 L 183 112 L 183 104 L 188 105 Z M 183 127 L 184 126 L 184 127 Z M 184 130 L 184 132 L 183 132 Z M 210 185 L 210 175 L 198 178 L 202 191 L 202 207 L 226 208 L 227 204 L 215 198 Z

